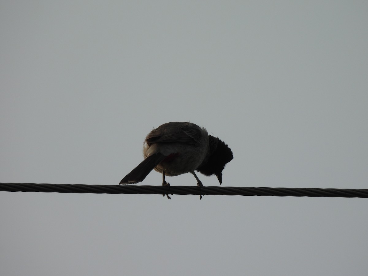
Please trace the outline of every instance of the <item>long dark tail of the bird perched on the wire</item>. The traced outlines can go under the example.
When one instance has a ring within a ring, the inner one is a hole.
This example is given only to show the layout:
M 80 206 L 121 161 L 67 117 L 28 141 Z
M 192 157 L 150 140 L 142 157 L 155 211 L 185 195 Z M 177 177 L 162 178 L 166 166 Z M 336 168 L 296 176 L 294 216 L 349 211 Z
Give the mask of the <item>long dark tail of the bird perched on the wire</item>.
M 148 156 L 135 169 L 128 173 L 119 184 L 135 184 L 141 182 L 165 157 L 161 153 Z

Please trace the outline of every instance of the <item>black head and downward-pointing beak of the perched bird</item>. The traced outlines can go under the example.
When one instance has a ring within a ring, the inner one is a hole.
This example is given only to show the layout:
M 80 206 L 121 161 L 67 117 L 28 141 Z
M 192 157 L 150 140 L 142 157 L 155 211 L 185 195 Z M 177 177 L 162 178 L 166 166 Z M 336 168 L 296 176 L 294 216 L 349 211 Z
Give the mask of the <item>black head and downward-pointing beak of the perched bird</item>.
M 220 184 L 222 183 L 222 170 L 225 165 L 233 159 L 233 152 L 219 138 L 208 135 L 209 140 L 209 156 L 204 164 L 198 167 L 197 171 L 205 176 L 215 174 Z

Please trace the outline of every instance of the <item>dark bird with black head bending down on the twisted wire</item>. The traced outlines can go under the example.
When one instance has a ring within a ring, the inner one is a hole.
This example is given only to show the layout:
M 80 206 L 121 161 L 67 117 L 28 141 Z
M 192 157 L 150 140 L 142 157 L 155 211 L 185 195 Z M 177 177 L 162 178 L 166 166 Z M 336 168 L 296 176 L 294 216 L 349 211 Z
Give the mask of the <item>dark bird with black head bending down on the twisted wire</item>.
M 162 185 L 170 188 L 165 176 L 191 173 L 199 191 L 203 184 L 195 171 L 205 176 L 215 175 L 222 184 L 222 171 L 233 159 L 233 152 L 218 137 L 209 135 L 204 127 L 189 122 L 170 122 L 154 128 L 143 145 L 144 160 L 119 184 L 143 181 L 152 171 L 162 173 Z M 167 198 L 170 199 L 167 194 Z M 199 194 L 202 199 L 202 195 Z

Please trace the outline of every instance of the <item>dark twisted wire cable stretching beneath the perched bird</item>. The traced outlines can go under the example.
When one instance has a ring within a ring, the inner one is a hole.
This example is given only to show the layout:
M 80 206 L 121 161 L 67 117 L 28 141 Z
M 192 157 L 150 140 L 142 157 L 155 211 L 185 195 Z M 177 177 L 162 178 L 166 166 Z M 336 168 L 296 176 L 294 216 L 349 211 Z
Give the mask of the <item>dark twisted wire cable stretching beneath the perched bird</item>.
M 198 195 L 197 186 L 85 185 L 0 183 L 6 192 L 63 192 L 78 194 L 173 194 Z M 368 189 L 269 188 L 269 187 L 201 187 L 202 195 L 258 195 L 262 197 L 346 197 L 368 198 Z

